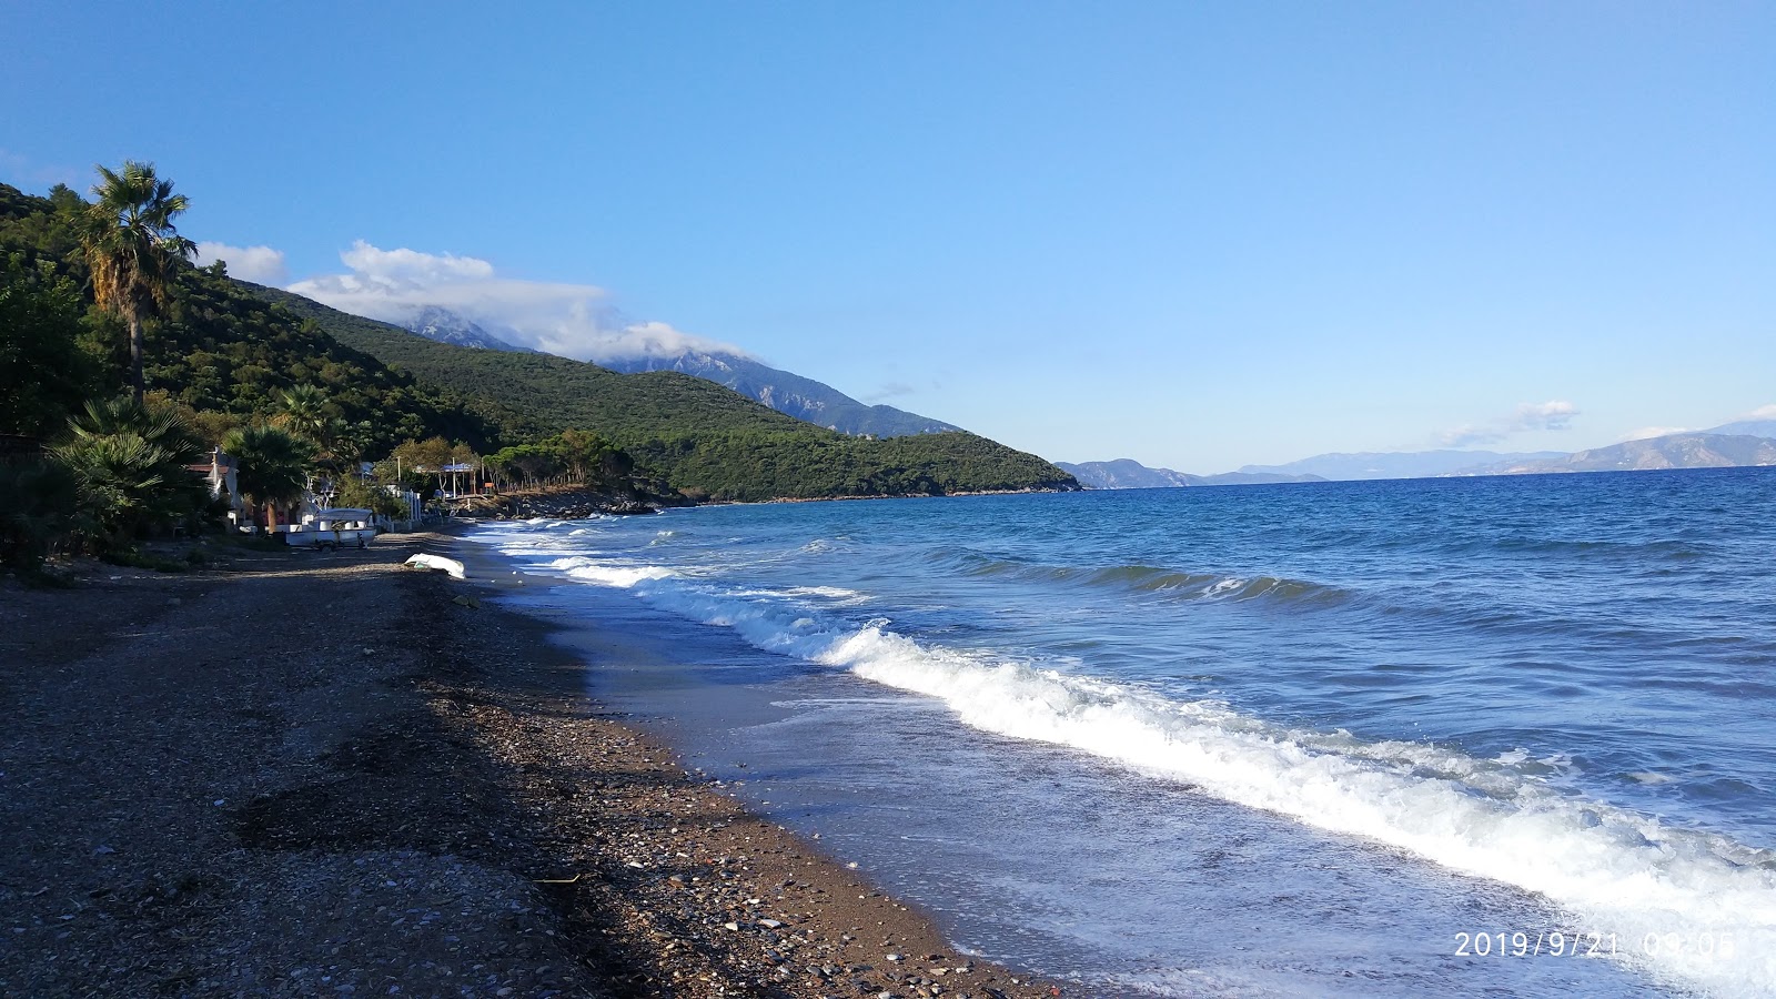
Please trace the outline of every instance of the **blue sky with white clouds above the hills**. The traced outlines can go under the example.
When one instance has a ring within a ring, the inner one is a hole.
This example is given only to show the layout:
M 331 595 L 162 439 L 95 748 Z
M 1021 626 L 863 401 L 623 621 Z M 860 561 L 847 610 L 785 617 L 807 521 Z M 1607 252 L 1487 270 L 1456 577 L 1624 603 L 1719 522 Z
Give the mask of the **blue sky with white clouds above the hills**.
M 1776 4 L 11 0 L 0 181 L 1053 460 L 1776 416 Z M 206 260 L 208 260 L 206 258 Z

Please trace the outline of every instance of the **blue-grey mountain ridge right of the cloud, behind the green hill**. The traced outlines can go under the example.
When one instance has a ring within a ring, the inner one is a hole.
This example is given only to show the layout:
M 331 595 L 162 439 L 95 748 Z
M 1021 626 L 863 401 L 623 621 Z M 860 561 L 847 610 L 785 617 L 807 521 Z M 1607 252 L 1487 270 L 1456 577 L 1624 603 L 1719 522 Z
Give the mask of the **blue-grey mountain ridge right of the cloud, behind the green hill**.
M 680 372 L 696 379 L 726 386 L 744 396 L 757 398 L 778 412 L 805 420 L 815 427 L 840 434 L 868 434 L 872 437 L 906 437 L 909 434 L 945 434 L 961 430 L 941 420 L 895 409 L 892 405 L 865 405 L 849 395 L 783 372 L 737 354 L 687 352 L 677 357 L 634 357 L 627 361 L 600 361 L 613 372 Z

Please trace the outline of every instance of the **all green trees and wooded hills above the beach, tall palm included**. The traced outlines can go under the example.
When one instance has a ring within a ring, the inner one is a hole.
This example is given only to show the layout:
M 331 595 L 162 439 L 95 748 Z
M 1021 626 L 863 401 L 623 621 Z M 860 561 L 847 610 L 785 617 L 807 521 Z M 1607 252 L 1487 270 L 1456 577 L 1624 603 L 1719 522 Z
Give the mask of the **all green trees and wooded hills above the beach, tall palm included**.
M 195 521 L 208 498 L 186 466 L 218 443 L 261 507 L 314 475 L 337 501 L 377 507 L 357 464 L 391 455 L 419 485 L 432 484 L 416 464 L 490 455 L 504 484 L 693 500 L 1073 485 L 970 434 L 845 437 L 689 375 L 449 347 L 234 281 L 186 263 L 174 228 L 186 201 L 151 165 L 99 178 L 92 204 L 60 185 L 46 197 L 0 185 L 7 563 L 59 547 L 128 558 L 137 539 Z M 130 398 L 110 402 L 121 388 Z

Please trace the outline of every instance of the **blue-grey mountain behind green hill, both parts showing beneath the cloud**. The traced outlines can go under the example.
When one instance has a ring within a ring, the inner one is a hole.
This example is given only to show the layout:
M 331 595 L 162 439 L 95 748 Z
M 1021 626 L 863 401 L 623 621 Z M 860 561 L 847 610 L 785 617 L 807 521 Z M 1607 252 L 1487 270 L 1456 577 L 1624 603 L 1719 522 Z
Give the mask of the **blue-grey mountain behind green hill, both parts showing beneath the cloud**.
M 439 306 L 424 306 L 403 322 L 401 327 L 455 347 L 535 354 L 535 350 L 501 340 L 469 318 Z M 597 364 L 625 375 L 639 372 L 680 372 L 705 382 L 726 386 L 778 412 L 813 423 L 815 427 L 838 430 L 840 434 L 911 437 L 913 434 L 961 430 L 961 427 L 943 423 L 941 420 L 931 420 L 929 416 L 892 405 L 865 405 L 833 386 L 762 364 L 751 357 L 741 357 L 739 354 L 691 350 L 675 357 L 632 357 L 623 361 L 597 361 Z

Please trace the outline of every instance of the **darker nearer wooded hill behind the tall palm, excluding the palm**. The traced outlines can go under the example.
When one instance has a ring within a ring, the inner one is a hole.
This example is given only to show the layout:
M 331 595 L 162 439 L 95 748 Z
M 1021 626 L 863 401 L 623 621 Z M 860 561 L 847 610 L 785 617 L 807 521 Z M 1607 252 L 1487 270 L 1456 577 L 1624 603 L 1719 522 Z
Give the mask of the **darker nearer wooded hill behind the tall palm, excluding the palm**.
M 76 235 L 83 208 L 66 187 L 36 197 L 0 183 L 0 304 L 14 306 L 0 316 L 0 414 L 7 416 L 0 430 L 53 437 L 66 427 L 64 407 L 103 398 L 123 380 L 112 327 L 96 325 L 99 338 L 80 329 L 91 304 Z M 53 313 L 39 316 L 44 306 L 71 313 L 67 329 L 46 322 Z M 274 420 L 279 396 L 302 384 L 327 393 L 343 452 L 380 457 L 408 437 L 432 436 L 492 450 L 515 430 L 497 407 L 421 384 L 281 313 L 226 277 L 226 265 L 176 268 L 169 306 L 149 327 L 142 375 L 149 398 L 183 407 L 210 439 Z M 52 350 L 59 338 L 73 343 Z

